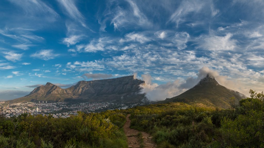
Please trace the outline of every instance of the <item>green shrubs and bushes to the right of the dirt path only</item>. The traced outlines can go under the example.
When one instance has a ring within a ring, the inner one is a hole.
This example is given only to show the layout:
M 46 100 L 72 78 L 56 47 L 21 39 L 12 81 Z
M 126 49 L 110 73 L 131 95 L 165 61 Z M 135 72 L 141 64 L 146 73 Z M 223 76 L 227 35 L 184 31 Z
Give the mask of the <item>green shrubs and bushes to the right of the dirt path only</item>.
M 153 135 L 158 147 L 264 147 L 264 95 L 250 90 L 234 109 L 185 103 L 131 109 L 131 127 Z

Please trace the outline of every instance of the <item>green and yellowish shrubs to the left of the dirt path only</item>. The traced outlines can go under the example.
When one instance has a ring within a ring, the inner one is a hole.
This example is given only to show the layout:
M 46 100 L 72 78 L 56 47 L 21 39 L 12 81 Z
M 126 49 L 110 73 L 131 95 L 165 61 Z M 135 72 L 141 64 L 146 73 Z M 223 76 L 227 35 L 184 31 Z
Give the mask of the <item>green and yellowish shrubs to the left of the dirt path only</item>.
M 126 114 L 119 110 L 84 114 L 69 118 L 31 116 L 0 118 L 0 147 L 79 148 L 127 147 L 122 131 Z

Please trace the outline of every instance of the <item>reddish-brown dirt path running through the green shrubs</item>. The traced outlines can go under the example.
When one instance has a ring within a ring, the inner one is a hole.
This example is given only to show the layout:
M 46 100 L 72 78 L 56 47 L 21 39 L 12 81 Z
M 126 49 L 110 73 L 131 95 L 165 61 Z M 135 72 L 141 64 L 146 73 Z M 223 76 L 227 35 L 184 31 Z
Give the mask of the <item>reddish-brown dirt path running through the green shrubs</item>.
M 129 119 L 129 116 L 126 116 L 126 123 L 124 125 L 124 131 L 125 131 L 125 134 L 128 138 L 128 147 L 133 147 L 133 148 L 138 148 L 140 147 L 140 141 L 138 139 L 138 133 L 139 131 L 137 130 L 134 130 L 134 129 L 130 129 L 130 122 L 131 120 Z M 150 137 L 150 135 L 146 132 L 141 132 L 142 133 L 142 138 L 144 140 L 144 147 L 145 148 L 155 148 L 156 145 L 155 143 L 151 140 L 152 137 Z

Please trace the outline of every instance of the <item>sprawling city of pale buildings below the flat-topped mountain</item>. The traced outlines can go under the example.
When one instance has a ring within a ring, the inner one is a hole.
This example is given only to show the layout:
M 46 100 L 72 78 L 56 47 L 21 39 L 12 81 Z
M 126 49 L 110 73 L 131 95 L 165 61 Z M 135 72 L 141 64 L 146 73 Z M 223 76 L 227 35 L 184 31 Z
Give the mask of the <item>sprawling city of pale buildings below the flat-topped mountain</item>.
M 134 106 L 143 105 L 143 103 L 136 104 L 122 104 L 111 102 L 82 102 L 82 103 L 69 103 L 69 102 L 52 102 L 39 101 L 35 102 L 23 102 L 7 104 L 7 102 L 0 102 L 1 114 L 10 118 L 13 116 L 19 116 L 24 113 L 31 115 L 51 115 L 54 118 L 67 118 L 71 115 L 77 115 L 79 111 L 82 112 L 101 112 L 114 109 L 126 109 Z

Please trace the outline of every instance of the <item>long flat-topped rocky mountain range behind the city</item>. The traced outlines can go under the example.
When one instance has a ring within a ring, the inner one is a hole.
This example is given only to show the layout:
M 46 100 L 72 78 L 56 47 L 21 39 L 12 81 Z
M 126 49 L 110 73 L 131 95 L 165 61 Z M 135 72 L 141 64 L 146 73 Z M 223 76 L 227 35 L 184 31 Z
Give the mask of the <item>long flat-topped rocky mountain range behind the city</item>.
M 142 80 L 134 76 L 125 76 L 94 81 L 79 81 L 76 85 L 63 89 L 52 83 L 35 88 L 29 95 L 11 100 L 17 102 L 59 102 L 59 101 L 85 101 L 85 102 L 116 102 L 140 103 L 147 99 L 144 94 L 139 94 Z

